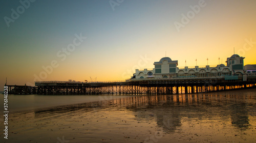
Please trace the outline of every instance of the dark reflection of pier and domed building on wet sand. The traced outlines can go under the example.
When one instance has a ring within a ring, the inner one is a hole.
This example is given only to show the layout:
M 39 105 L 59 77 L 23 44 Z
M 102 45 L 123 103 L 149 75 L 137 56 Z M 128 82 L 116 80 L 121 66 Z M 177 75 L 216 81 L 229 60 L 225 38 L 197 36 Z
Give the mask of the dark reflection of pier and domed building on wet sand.
M 182 95 L 137 95 L 127 98 L 111 99 L 100 102 L 62 106 L 36 110 L 35 117 L 52 116 L 52 113 L 70 111 L 92 111 L 99 108 L 126 108 L 134 113 L 134 120 L 154 120 L 165 132 L 174 132 L 182 126 L 182 120 L 230 121 L 231 125 L 245 130 L 250 126 L 248 106 L 253 95 L 201 93 Z M 255 105 L 253 105 L 255 106 Z

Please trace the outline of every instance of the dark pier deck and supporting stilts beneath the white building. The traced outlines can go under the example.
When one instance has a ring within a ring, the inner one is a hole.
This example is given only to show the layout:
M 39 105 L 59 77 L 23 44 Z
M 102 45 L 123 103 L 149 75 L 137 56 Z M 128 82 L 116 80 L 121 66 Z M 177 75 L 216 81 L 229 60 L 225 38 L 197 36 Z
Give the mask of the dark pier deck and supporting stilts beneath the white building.
M 36 81 L 35 87 L 7 85 L 9 94 L 38 95 L 170 95 L 217 92 L 256 87 L 256 76 L 127 79 L 125 81 Z

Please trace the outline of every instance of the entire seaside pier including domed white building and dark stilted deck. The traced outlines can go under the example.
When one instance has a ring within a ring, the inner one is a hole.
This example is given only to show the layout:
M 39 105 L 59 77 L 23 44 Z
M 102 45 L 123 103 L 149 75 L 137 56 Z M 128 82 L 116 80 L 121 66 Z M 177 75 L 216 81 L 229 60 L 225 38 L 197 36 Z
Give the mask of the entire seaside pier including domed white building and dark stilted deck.
M 136 69 L 124 81 L 36 81 L 35 87 L 8 85 L 9 94 L 39 95 L 168 95 L 255 88 L 256 65 L 244 66 L 245 58 L 233 54 L 227 65 L 179 68 L 168 57 L 154 69 Z

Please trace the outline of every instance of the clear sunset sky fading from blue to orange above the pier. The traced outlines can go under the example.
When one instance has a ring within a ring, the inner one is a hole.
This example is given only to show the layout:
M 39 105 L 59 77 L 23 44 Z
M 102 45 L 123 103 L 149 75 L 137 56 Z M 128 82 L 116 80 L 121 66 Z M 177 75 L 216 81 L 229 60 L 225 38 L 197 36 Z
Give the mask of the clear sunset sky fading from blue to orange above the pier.
M 29 2 L 28 0 L 22 0 Z M 178 67 L 217 65 L 235 52 L 244 64 L 256 64 L 256 1 L 35 1 L 22 11 L 19 1 L 0 2 L 0 91 L 8 84 L 41 80 L 124 80 L 135 69 L 154 68 L 166 55 Z M 28 3 L 26 3 L 28 4 Z M 197 7 L 196 6 L 196 7 Z M 13 22 L 12 9 L 20 12 Z M 182 24 L 183 15 L 189 21 Z M 194 14 L 194 15 L 193 15 Z M 87 37 L 63 55 L 76 38 Z M 249 43 L 249 44 L 248 44 Z M 59 53 L 59 55 L 57 55 Z M 146 58 L 145 58 L 146 57 Z M 58 67 L 46 71 L 51 62 Z

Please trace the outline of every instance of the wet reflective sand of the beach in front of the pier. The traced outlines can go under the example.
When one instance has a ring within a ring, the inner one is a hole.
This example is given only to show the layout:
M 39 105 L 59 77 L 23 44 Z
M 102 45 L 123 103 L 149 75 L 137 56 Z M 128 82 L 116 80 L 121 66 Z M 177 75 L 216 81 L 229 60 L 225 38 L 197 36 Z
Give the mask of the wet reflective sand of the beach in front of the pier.
M 127 96 L 16 112 L 8 122 L 1 142 L 255 142 L 256 90 Z

